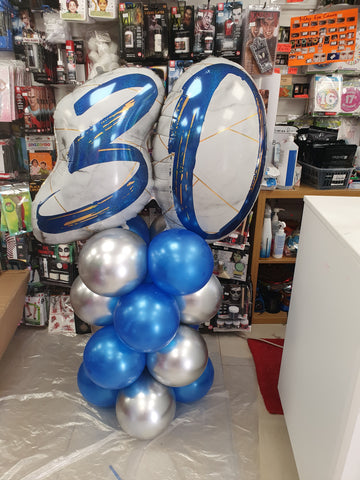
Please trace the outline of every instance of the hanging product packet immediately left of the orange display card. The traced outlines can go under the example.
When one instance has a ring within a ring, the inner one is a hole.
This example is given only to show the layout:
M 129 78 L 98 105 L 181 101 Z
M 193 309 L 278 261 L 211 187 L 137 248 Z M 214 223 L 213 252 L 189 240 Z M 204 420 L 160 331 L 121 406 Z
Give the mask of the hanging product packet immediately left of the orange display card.
M 243 20 L 241 64 L 250 75 L 271 74 L 275 66 L 280 10 L 250 6 Z

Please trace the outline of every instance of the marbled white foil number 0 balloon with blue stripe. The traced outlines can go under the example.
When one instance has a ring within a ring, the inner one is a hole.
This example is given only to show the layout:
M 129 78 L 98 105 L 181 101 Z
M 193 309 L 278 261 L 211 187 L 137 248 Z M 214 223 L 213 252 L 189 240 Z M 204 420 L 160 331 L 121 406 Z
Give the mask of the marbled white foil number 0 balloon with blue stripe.
M 207 241 L 232 232 L 257 198 L 265 153 L 264 104 L 246 71 L 215 57 L 190 67 L 165 101 L 153 145 L 169 227 Z

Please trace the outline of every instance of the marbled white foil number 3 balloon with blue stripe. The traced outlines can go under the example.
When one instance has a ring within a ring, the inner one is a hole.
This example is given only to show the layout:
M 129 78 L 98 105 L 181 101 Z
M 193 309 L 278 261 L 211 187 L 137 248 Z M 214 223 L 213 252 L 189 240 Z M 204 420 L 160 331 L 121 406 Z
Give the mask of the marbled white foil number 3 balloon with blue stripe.
M 154 72 L 122 67 L 89 80 L 58 103 L 57 162 L 33 205 L 38 240 L 86 239 L 142 210 L 153 186 L 146 141 L 163 98 Z

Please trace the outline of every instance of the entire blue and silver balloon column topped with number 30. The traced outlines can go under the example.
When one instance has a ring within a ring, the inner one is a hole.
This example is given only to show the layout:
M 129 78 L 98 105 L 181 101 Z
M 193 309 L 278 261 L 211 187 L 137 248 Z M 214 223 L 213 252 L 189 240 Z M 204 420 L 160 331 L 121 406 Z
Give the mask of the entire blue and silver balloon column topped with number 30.
M 84 349 L 79 390 L 116 407 L 123 430 L 141 439 L 167 427 L 176 401 L 199 400 L 212 385 L 193 328 L 222 297 L 206 242 L 244 220 L 265 165 L 264 105 L 238 64 L 194 64 L 163 100 L 160 78 L 137 67 L 64 97 L 54 115 L 58 160 L 32 209 L 39 241 L 87 239 L 71 302 L 101 328 Z M 136 215 L 153 190 L 163 215 L 148 231 Z

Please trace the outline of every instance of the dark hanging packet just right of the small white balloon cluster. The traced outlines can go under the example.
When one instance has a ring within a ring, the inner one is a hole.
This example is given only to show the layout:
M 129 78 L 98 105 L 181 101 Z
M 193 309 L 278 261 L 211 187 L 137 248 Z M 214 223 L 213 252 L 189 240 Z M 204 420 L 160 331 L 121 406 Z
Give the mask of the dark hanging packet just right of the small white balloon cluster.
M 140 61 L 145 55 L 143 4 L 126 2 L 119 4 L 120 51 L 128 61 Z

